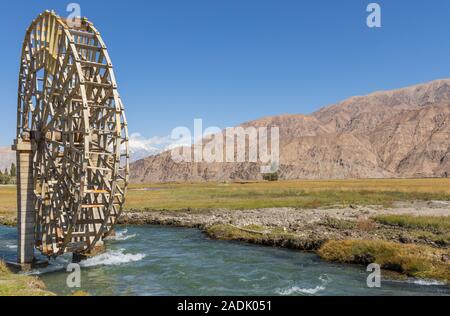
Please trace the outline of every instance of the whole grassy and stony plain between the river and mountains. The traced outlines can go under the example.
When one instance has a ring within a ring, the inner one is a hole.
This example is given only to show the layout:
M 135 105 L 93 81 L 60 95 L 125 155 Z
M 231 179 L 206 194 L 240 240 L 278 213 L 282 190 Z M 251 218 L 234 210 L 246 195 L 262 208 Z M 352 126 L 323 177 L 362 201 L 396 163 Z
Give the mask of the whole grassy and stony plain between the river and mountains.
M 195 227 L 448 283 L 449 188 L 450 179 L 131 185 L 120 224 Z M 15 187 L 1 186 L 0 224 L 15 225 L 15 204 Z

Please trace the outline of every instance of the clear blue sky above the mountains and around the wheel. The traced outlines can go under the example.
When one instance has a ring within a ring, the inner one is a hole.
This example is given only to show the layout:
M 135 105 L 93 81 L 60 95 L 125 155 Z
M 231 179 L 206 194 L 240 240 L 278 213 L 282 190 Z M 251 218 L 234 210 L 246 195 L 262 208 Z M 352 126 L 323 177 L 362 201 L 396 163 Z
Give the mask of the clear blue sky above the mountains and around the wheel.
M 73 1 L 101 32 L 131 133 L 170 134 L 194 118 L 221 128 L 310 113 L 353 95 L 449 77 L 450 1 Z M 70 1 L 11 1 L 0 19 L 0 145 L 15 136 L 20 48 L 45 9 Z

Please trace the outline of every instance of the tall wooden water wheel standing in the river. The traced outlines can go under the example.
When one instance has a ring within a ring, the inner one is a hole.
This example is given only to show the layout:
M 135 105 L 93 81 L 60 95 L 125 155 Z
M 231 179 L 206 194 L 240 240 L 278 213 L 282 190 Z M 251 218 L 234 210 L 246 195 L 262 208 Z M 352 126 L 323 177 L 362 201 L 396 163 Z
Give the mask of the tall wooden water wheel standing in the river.
M 31 143 L 35 247 L 88 253 L 116 223 L 128 131 L 106 46 L 86 19 L 40 14 L 22 47 L 17 139 Z

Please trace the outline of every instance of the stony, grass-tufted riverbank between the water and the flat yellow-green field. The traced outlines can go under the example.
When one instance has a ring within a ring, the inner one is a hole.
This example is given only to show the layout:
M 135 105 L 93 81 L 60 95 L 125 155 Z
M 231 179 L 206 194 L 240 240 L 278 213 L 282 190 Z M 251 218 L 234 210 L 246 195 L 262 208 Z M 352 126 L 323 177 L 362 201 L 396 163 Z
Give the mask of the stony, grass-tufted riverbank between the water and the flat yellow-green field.
M 341 263 L 379 263 L 405 276 L 450 282 L 448 202 L 393 208 L 129 211 L 120 224 L 196 227 L 213 239 L 314 251 Z

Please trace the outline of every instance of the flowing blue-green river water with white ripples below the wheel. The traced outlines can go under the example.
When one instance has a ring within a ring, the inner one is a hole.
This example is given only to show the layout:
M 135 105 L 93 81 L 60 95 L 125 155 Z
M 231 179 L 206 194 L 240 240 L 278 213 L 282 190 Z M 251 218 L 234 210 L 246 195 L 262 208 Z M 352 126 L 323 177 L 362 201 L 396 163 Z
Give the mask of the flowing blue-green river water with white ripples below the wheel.
M 450 295 L 439 282 L 387 281 L 367 287 L 364 267 L 299 251 L 210 240 L 196 229 L 119 227 L 107 251 L 81 263 L 91 295 Z M 0 257 L 16 256 L 14 228 L 0 226 Z M 70 294 L 63 256 L 39 274 L 49 290 Z

